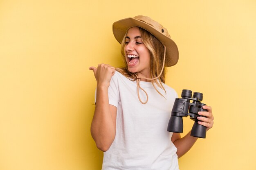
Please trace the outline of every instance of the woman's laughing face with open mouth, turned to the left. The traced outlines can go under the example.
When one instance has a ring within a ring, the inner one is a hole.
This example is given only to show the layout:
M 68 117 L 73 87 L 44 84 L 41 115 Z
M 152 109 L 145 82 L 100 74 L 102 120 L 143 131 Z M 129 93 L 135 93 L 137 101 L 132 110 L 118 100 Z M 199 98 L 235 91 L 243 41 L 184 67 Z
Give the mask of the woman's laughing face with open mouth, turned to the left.
M 128 30 L 124 53 L 129 72 L 137 72 L 139 77 L 149 77 L 150 52 L 141 39 L 138 27 L 132 27 Z

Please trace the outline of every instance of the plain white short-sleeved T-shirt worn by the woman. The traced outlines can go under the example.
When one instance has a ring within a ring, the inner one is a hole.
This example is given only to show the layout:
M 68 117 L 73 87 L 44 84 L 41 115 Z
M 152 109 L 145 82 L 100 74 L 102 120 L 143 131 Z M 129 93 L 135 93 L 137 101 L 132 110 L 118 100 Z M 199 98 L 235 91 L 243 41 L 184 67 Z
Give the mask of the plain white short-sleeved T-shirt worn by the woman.
M 140 82 L 148 93 L 141 104 L 136 81 L 115 72 L 108 88 L 109 104 L 117 107 L 115 140 L 104 152 L 102 170 L 178 170 L 177 148 L 167 131 L 177 93 L 163 83 L 158 91 L 151 82 Z M 142 101 L 146 94 L 140 89 Z M 96 100 L 96 95 L 95 95 Z

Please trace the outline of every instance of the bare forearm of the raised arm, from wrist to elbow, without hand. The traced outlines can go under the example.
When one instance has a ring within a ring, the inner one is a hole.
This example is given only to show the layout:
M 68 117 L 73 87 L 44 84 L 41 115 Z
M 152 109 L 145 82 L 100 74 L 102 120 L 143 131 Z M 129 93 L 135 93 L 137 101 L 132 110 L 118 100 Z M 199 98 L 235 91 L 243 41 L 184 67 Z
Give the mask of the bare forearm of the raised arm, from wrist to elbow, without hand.
M 108 102 L 108 87 L 97 86 L 97 98 L 92 119 L 91 133 L 97 147 L 106 151 L 115 139 L 115 115 Z

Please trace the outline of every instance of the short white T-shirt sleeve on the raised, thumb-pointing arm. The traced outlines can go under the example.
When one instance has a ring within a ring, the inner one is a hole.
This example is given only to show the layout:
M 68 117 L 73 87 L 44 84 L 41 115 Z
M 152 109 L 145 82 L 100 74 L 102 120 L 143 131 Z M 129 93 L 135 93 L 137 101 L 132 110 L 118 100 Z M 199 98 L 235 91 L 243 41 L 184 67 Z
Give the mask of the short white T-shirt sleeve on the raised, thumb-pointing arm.
M 95 103 L 96 103 L 97 89 L 95 90 Z M 117 107 L 119 101 L 119 87 L 117 72 L 112 76 L 110 86 L 108 87 L 108 101 L 110 105 Z

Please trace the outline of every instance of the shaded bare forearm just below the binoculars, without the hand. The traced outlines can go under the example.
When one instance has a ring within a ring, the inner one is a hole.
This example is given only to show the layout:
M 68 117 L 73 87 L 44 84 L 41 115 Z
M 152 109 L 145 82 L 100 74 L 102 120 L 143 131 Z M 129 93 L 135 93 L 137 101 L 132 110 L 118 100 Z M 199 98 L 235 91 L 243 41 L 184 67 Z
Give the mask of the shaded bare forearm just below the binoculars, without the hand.
M 185 153 L 187 153 L 198 139 L 197 137 L 191 136 L 190 133 L 191 131 L 188 134 L 186 134 L 186 136 L 177 139 L 173 142 L 173 144 L 177 148 L 178 158 L 182 157 Z

